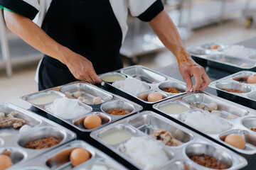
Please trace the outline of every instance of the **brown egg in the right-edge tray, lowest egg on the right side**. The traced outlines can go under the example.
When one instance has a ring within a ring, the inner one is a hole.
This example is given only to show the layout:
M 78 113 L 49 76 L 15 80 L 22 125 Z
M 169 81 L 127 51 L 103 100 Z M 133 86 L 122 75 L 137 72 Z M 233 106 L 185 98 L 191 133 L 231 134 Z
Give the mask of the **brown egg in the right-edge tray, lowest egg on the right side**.
M 238 149 L 245 148 L 245 139 L 238 134 L 230 134 L 227 137 L 225 137 L 224 141 Z

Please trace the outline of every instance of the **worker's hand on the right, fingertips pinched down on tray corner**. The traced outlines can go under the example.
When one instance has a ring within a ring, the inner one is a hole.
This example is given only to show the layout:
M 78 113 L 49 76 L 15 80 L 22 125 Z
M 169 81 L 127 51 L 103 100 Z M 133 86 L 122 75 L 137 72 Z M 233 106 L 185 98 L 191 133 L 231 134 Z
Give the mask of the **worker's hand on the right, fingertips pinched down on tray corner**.
M 190 91 L 201 91 L 206 89 L 210 84 L 210 78 L 206 74 L 206 71 L 197 64 L 190 56 L 186 56 L 178 61 L 178 67 L 181 76 L 186 81 L 186 92 Z M 193 86 L 191 77 L 195 77 L 196 84 Z

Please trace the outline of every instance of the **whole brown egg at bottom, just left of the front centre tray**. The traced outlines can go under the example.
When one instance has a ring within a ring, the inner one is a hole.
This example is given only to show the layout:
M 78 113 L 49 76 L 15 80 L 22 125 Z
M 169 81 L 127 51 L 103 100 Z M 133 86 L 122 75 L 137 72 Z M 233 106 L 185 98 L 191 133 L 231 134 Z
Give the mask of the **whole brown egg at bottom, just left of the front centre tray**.
M 78 166 L 88 159 L 90 159 L 90 152 L 86 149 L 76 148 L 70 154 L 70 162 L 73 166 Z

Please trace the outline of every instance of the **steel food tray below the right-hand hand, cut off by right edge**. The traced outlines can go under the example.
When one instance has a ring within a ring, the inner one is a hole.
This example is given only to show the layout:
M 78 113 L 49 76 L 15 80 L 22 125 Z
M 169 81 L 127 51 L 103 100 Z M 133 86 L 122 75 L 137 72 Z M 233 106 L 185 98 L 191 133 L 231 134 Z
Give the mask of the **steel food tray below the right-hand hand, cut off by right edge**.
M 206 107 L 198 108 L 191 105 L 191 103 Z M 218 109 L 217 113 L 215 113 L 217 115 L 213 115 L 213 111 L 211 113 L 203 111 L 203 109 L 208 110 L 208 106 L 212 105 L 210 103 L 217 104 Z M 164 110 L 166 106 L 176 106 L 176 108 L 183 108 L 185 110 L 180 109 L 181 111 L 179 113 L 167 113 L 168 111 Z M 199 132 L 203 132 L 205 135 L 212 137 L 214 140 L 223 143 L 223 145 L 237 152 L 242 154 L 256 154 L 256 132 L 250 130 L 250 128 L 256 128 L 256 112 L 251 108 L 204 92 L 196 92 L 172 98 L 171 100 L 157 103 L 153 108 L 156 111 L 169 115 L 171 118 L 181 121 L 181 123 L 185 123 Z M 198 115 L 193 115 L 193 113 L 198 113 Z M 188 118 L 189 115 L 194 117 Z M 202 120 L 200 116 L 206 117 L 208 120 L 206 118 Z M 215 122 L 219 122 L 219 124 L 212 124 Z M 240 135 L 245 140 L 245 148 L 238 149 L 224 142 L 225 137 L 230 134 Z

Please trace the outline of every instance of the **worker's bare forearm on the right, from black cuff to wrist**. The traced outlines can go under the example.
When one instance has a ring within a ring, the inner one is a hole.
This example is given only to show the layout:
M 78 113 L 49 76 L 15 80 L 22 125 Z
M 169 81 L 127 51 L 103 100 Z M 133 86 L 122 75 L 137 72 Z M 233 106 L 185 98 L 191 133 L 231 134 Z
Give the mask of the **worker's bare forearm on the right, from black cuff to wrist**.
M 161 11 L 149 24 L 166 48 L 176 56 L 178 64 L 191 60 L 176 26 L 165 11 Z

